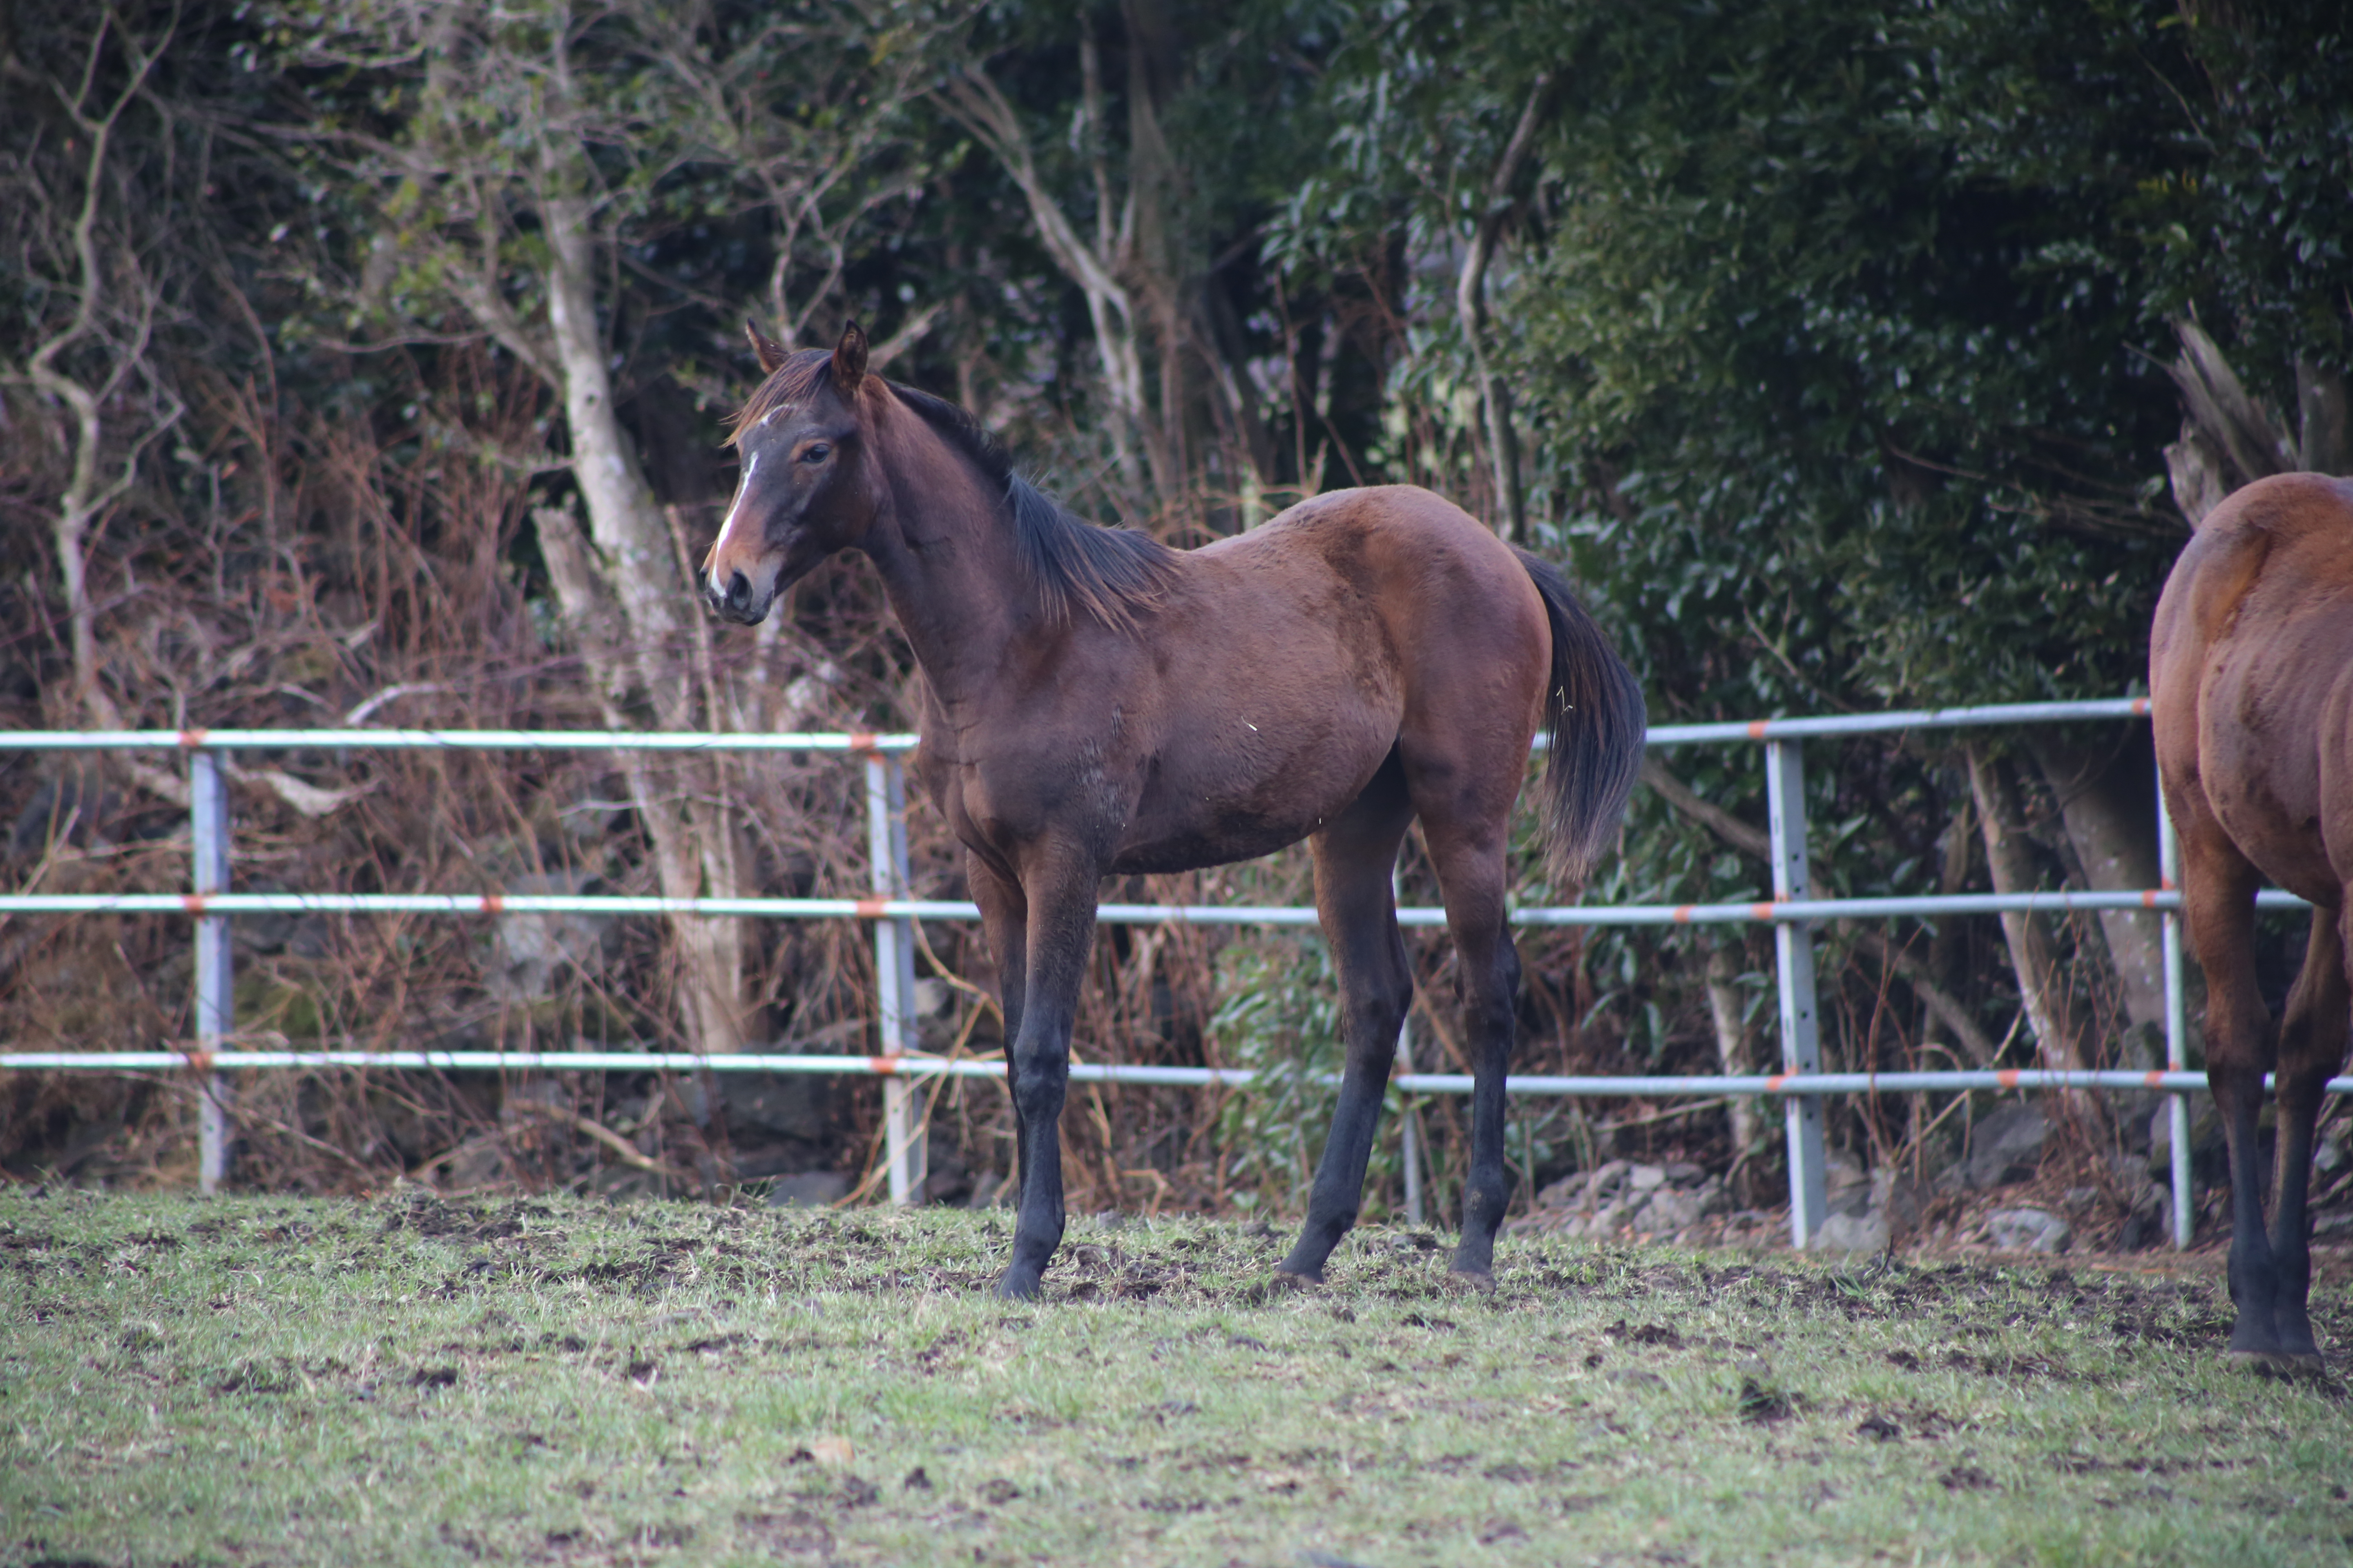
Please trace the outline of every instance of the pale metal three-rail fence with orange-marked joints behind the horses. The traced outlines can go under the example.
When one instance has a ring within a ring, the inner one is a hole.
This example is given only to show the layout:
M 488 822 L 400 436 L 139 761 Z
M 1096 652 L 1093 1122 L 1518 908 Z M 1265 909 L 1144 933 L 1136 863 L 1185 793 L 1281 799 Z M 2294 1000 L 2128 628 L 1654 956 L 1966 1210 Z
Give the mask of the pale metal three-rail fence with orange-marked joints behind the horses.
M 1774 1095 L 1784 1103 L 1791 1173 L 1791 1239 L 1805 1246 L 1828 1215 L 1821 1143 L 1821 1098 L 1831 1093 L 1960 1093 L 1979 1088 L 2139 1088 L 2172 1095 L 2174 1246 L 2191 1241 L 2191 1166 L 2186 1095 L 2205 1074 L 2186 1070 L 2181 1013 L 2181 896 L 2174 891 L 2174 837 L 2160 820 L 2162 886 L 2139 891 L 1962 893 L 1951 898 L 1814 898 L 1807 870 L 1802 743 L 1807 738 L 1868 736 L 1911 729 L 1988 724 L 2049 724 L 2068 719 L 2146 717 L 2148 698 L 2092 703 L 2005 703 L 1882 715 L 1753 719 L 1734 724 L 1657 724 L 1649 745 L 1762 743 L 1772 842 L 1772 900 L 1718 905 L 1584 905 L 1522 907 L 1520 926 L 1659 926 L 1769 922 L 1779 992 L 1781 1072 L 1675 1077 L 1534 1077 L 1511 1079 L 1522 1095 Z M 221 752 L 231 750 L 642 750 L 642 752 L 840 752 L 866 771 L 868 898 L 624 898 L 624 896 L 501 896 L 501 893 L 231 893 L 228 795 Z M 972 903 L 908 898 L 906 780 L 899 757 L 915 736 L 899 733 L 607 733 L 520 729 L 191 729 L 191 731 L 16 731 L 0 733 L 0 750 L 169 750 L 188 759 L 193 877 L 186 893 L 0 893 L 0 914 L 141 914 L 195 919 L 195 1046 L 186 1051 L 0 1051 L 0 1070 L 193 1070 L 200 1074 L 200 1173 L 214 1190 L 231 1145 L 233 1070 L 381 1067 L 440 1072 L 828 1072 L 882 1077 L 885 1147 L 894 1204 L 922 1197 L 922 1091 L 946 1077 L 1002 1077 L 1000 1060 L 925 1056 L 913 1032 L 918 919 L 979 919 Z M 2264 907 L 2301 907 L 2266 891 Z M 2153 910 L 2165 943 L 2165 1058 L 2162 1072 L 1824 1072 L 1817 1023 L 1812 926 L 1824 919 L 1889 919 L 1927 914 L 2002 914 L 2012 910 Z M 664 1051 L 242 1051 L 231 1018 L 228 922 L 275 912 L 421 912 L 421 914 L 704 914 L 753 919 L 868 919 L 875 940 L 875 1056 L 689 1056 Z M 1127 905 L 1106 903 L 1108 924 L 1224 924 L 1313 926 L 1311 907 L 1268 905 Z M 1440 926 L 1445 910 L 1398 910 L 1400 924 Z M 1141 1067 L 1075 1063 L 1071 1077 L 1106 1084 L 1245 1086 L 1252 1074 L 1217 1067 Z M 1468 1093 L 1466 1074 L 1400 1072 L 1405 1093 Z M 2353 1079 L 2332 1079 L 2332 1093 L 2353 1093 Z M 1405 1178 L 1419 1199 L 1419 1159 L 1407 1119 Z M 1414 1204 L 1419 1208 L 1419 1204 Z M 1419 1218 L 1419 1215 L 1417 1215 Z

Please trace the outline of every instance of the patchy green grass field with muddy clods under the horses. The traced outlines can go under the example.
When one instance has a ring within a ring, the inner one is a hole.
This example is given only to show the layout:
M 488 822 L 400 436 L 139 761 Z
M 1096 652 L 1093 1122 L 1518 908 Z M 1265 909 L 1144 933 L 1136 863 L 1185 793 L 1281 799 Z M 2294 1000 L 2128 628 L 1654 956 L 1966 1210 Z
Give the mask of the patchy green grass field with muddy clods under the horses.
M 0 1563 L 2329 1563 L 2207 1272 L 0 1192 Z M 2334 1284 L 2322 1345 L 2353 1309 Z

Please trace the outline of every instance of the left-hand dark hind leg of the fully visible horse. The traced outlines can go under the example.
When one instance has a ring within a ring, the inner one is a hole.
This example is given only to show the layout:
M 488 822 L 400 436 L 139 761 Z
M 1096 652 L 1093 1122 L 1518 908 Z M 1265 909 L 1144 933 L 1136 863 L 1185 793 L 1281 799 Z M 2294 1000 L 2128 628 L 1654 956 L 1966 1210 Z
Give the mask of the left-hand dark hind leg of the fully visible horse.
M 1414 973 L 1398 933 L 1391 872 L 1414 820 L 1405 776 L 1391 757 L 1365 792 L 1313 839 L 1315 914 L 1339 973 L 1346 1065 L 1332 1133 L 1315 1164 L 1308 1218 L 1275 1279 L 1322 1281 L 1325 1260 L 1355 1225 L 1365 1201 L 1365 1166 L 1381 1124 L 1381 1095 L 1398 1056 L 1398 1030 L 1414 999 Z

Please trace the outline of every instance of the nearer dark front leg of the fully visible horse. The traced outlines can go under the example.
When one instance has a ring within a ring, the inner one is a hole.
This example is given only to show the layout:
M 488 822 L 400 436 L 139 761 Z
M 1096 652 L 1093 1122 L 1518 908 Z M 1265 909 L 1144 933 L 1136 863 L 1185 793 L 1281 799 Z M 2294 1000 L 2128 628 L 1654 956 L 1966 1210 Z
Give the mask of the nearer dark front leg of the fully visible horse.
M 1024 867 L 1028 896 L 1028 976 L 1021 1027 L 1007 1046 L 1014 1114 L 1021 1126 L 1021 1208 L 1014 1255 L 998 1279 L 998 1295 L 1031 1300 L 1047 1260 L 1061 1246 L 1061 1105 L 1071 1086 L 1071 1025 L 1078 983 L 1094 943 L 1096 865 L 1075 858 L 1038 872 Z

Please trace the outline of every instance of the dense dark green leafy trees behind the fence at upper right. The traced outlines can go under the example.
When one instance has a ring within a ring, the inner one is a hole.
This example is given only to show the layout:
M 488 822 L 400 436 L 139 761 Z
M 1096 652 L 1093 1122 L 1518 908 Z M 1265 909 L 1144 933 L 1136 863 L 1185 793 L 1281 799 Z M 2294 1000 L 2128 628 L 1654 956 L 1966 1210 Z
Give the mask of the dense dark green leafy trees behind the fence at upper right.
M 2329 7 L 1365 7 L 1289 256 L 1445 263 L 1539 106 L 1494 315 L 1553 548 L 1685 712 L 2127 689 L 2181 538 L 2165 315 L 2339 362 Z M 1553 80 L 1539 85 L 1537 73 Z M 1398 395 L 1464 364 L 1433 273 Z

